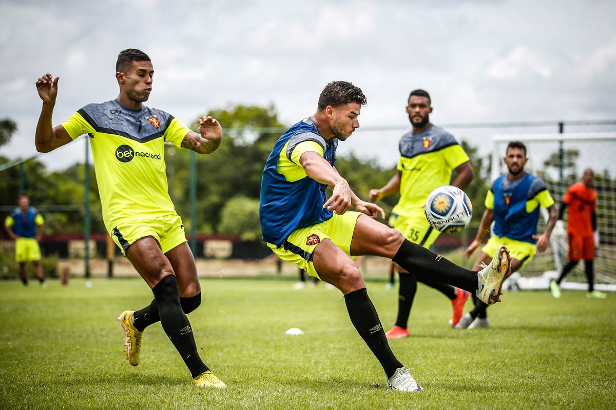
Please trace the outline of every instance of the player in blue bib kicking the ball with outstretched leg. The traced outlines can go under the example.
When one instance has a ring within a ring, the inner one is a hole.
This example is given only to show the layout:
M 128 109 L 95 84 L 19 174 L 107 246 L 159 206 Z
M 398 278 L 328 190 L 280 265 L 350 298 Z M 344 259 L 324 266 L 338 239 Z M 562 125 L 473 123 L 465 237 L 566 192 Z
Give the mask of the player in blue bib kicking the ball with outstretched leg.
M 318 99 L 317 112 L 278 138 L 263 171 L 261 231 L 281 259 L 342 292 L 351 322 L 383 366 L 389 387 L 419 392 L 421 387 L 389 348 L 353 258 L 393 259 L 418 277 L 447 282 L 493 304 L 509 270 L 509 252 L 500 246 L 490 266 L 472 272 L 375 220 L 378 215 L 384 218 L 384 211 L 360 200 L 334 167 L 338 142 L 359 128 L 357 117 L 365 104 L 365 95 L 355 85 L 330 82 Z

